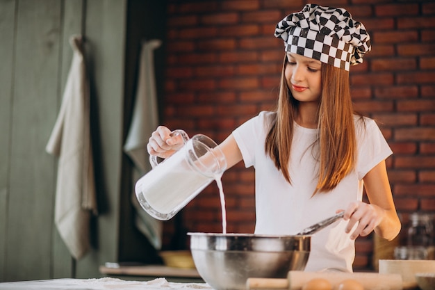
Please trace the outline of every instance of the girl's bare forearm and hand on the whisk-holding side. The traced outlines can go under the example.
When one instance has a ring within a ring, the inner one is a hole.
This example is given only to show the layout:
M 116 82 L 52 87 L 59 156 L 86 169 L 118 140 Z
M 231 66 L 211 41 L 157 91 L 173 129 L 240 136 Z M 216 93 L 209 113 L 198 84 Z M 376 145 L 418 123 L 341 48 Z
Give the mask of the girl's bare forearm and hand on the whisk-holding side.
M 359 222 L 351 239 L 356 239 L 359 235 L 367 236 L 375 230 L 379 236 L 391 241 L 399 234 L 401 225 L 393 202 L 385 161 L 372 168 L 363 181 L 370 204 L 350 204 L 344 216 L 345 220 L 350 220 L 346 232 L 350 232 L 354 224 Z

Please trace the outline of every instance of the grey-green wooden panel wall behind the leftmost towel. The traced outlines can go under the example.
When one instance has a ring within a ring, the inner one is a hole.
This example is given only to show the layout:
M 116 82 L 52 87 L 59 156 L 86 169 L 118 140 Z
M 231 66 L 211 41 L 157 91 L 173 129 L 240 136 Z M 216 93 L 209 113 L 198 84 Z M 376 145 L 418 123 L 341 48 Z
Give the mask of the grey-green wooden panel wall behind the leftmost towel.
M 117 259 L 124 90 L 124 1 L 0 1 L 0 282 L 98 277 Z M 44 150 L 85 33 L 100 216 L 94 249 L 72 261 L 54 227 L 57 160 Z M 104 237 L 104 238 L 103 238 Z

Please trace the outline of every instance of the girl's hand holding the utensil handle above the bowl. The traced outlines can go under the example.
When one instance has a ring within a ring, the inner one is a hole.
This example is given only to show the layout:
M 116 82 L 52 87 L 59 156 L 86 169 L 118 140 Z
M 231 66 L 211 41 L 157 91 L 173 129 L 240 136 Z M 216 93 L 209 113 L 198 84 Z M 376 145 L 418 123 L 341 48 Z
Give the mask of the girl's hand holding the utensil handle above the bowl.
M 382 219 L 386 215 L 384 209 L 366 202 L 351 202 L 345 214 L 344 220 L 349 220 L 345 228 L 346 233 L 350 233 L 356 223 L 358 225 L 354 229 L 354 232 L 350 235 L 350 239 L 356 239 L 358 236 L 367 236 L 375 227 L 381 223 Z

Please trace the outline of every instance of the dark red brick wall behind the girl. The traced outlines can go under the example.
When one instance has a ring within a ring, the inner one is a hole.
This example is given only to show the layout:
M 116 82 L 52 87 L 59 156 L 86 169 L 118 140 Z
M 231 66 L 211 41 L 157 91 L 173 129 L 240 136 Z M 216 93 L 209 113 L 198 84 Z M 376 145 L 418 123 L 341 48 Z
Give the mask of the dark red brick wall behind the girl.
M 379 121 L 395 154 L 388 172 L 404 223 L 435 211 L 435 3 L 337 0 L 366 25 L 372 51 L 351 68 L 357 111 Z M 163 124 L 217 143 L 261 110 L 274 108 L 284 56 L 274 26 L 301 0 L 168 1 Z M 243 164 L 222 179 L 228 232 L 254 230 L 254 173 Z M 208 186 L 178 222 L 181 232 L 222 232 L 217 186 Z M 174 236 L 165 223 L 165 246 Z M 179 230 L 179 229 L 178 229 Z M 372 236 L 356 241 L 356 268 L 370 268 Z

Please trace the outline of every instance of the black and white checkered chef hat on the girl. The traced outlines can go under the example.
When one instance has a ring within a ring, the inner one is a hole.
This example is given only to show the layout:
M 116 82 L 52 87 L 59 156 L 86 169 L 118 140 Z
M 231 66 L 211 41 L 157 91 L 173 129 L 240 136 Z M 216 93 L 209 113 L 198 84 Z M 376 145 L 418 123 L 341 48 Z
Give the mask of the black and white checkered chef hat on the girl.
M 370 36 L 361 22 L 343 8 L 306 4 L 298 13 L 277 24 L 275 37 L 284 40 L 285 50 L 317 59 L 344 70 L 363 62 L 370 51 Z

